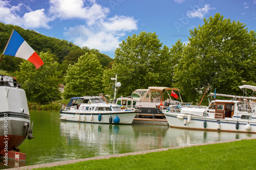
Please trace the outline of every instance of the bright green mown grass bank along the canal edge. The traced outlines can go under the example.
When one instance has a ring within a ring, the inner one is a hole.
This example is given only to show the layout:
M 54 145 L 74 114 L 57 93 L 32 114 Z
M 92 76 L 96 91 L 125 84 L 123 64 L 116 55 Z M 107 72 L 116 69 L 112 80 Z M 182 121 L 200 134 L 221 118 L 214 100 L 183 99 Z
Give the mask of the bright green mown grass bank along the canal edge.
M 39 169 L 256 169 L 256 139 Z

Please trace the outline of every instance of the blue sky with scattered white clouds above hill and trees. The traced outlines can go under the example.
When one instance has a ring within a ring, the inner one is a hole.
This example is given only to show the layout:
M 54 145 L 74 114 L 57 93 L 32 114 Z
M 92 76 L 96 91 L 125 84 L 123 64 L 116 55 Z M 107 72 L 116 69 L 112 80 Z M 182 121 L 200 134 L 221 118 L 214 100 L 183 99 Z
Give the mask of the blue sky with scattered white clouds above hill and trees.
M 220 13 L 256 30 L 256 0 L 0 0 L 0 21 L 96 48 L 114 58 L 122 40 L 156 32 L 163 45 L 187 43 L 189 30 Z

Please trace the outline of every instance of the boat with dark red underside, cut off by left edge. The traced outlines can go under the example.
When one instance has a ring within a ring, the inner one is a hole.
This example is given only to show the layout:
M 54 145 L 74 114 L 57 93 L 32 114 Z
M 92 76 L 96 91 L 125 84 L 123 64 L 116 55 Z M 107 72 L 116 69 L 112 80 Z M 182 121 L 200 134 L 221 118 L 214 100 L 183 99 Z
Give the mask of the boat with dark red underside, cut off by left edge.
M 32 139 L 32 128 L 26 93 L 16 78 L 0 75 L 0 154 L 19 151 L 26 138 Z

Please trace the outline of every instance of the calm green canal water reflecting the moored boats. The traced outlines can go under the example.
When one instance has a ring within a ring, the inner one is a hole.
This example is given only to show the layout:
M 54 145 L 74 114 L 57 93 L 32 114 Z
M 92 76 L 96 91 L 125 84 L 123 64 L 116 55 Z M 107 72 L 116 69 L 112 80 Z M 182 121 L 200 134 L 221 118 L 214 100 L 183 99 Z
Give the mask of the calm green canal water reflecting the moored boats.
M 20 145 L 20 152 L 26 154 L 26 163 L 19 163 L 18 166 L 256 136 L 175 129 L 168 126 L 62 122 L 57 111 L 31 110 L 30 117 L 34 122 L 35 138 L 26 139 Z

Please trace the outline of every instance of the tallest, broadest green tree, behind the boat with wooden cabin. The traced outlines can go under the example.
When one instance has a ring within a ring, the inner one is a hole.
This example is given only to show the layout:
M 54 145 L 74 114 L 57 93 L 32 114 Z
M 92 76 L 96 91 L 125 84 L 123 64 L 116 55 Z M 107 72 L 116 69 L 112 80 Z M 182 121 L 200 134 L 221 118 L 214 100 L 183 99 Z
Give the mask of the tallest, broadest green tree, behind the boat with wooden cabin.
M 238 94 L 242 80 L 255 82 L 255 32 L 219 13 L 190 30 L 191 38 L 175 67 L 177 88 L 199 101 L 210 84 L 218 93 Z

